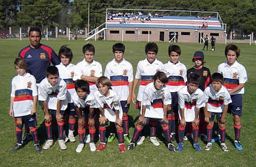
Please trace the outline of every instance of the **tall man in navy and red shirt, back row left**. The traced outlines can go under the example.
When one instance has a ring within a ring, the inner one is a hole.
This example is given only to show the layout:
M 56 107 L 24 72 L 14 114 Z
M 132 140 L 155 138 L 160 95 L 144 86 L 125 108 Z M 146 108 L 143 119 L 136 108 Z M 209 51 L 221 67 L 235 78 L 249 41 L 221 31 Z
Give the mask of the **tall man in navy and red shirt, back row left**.
M 37 80 L 37 85 L 45 78 L 46 68 L 52 63 L 57 65 L 61 62 L 60 58 L 51 49 L 51 47 L 40 44 L 41 30 L 38 27 L 29 29 L 28 38 L 30 43 L 28 46 L 21 49 L 19 57 L 25 59 L 28 65 L 28 73 L 32 74 Z M 25 127 L 26 132 L 22 138 L 22 143 L 26 144 L 32 140 L 29 134 L 29 129 Z

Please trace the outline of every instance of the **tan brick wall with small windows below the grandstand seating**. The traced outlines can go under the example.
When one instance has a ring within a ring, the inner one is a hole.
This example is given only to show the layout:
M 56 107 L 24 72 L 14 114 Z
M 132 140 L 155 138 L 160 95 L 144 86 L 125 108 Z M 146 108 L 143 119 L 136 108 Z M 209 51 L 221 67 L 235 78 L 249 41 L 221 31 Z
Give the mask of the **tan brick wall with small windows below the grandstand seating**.
M 112 31 L 119 31 L 119 33 L 110 33 Z M 128 32 L 127 32 L 128 31 Z M 200 32 L 203 33 L 203 38 L 207 34 L 211 38 L 211 33 L 218 33 L 218 36 L 214 36 L 217 40 L 217 43 L 225 43 L 225 32 L 218 30 L 210 29 L 165 29 L 165 28 L 116 28 L 108 27 L 106 29 L 106 40 L 117 40 L 117 41 L 148 41 L 148 31 L 150 34 L 150 41 L 160 41 L 160 33 L 164 35 L 163 41 L 169 41 L 169 33 L 176 32 L 178 34 L 178 42 L 181 43 L 199 43 Z M 123 32 L 123 33 L 122 33 Z M 134 32 L 133 34 L 130 33 Z M 146 34 L 144 34 L 146 33 Z M 185 35 L 188 34 L 189 35 Z M 122 37 L 123 35 L 123 37 Z M 202 41 L 203 42 L 203 41 Z

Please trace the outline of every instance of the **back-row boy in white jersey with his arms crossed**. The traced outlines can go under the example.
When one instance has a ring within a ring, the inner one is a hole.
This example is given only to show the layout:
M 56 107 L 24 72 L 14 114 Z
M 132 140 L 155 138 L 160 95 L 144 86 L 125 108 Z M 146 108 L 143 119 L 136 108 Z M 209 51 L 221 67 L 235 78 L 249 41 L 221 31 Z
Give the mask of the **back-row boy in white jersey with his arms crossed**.
M 75 74 L 73 80 L 81 79 L 89 82 L 90 92 L 94 93 L 98 90 L 95 82 L 98 77 L 102 76 L 102 65 L 94 60 L 95 48 L 92 44 L 86 44 L 82 47 L 84 59 L 75 65 Z M 96 113 L 98 111 L 95 111 Z M 97 120 L 96 120 L 97 123 Z M 89 127 L 86 124 L 86 143 L 90 142 Z

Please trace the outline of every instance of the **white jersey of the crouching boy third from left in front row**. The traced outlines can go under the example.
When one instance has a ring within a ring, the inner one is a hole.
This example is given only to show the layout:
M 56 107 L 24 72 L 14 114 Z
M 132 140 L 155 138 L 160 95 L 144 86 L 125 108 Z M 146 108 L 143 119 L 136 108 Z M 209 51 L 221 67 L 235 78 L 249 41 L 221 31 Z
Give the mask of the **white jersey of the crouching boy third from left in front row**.
M 72 99 L 74 105 L 77 106 L 79 109 L 84 109 L 86 106 L 90 106 L 90 108 L 99 108 L 96 98 L 94 97 L 93 93 L 87 94 L 85 99 L 80 99 L 78 94 L 73 94 Z

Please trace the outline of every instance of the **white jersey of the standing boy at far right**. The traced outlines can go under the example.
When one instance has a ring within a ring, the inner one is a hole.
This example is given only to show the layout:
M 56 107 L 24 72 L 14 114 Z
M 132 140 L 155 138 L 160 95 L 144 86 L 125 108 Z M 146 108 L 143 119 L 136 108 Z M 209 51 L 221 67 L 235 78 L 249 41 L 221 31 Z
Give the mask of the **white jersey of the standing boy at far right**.
M 227 62 L 218 65 L 218 73 L 221 73 L 224 77 L 223 85 L 227 87 L 228 91 L 234 89 L 239 84 L 245 84 L 247 82 L 247 73 L 245 67 L 242 64 L 235 61 L 231 66 Z M 232 93 L 233 94 L 244 94 L 245 88 Z

